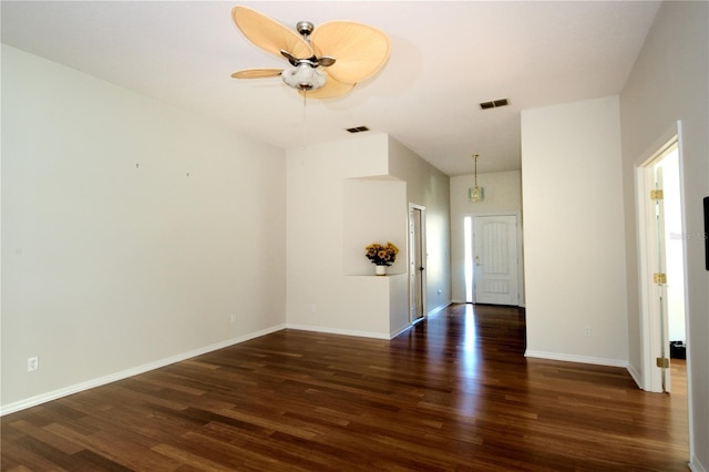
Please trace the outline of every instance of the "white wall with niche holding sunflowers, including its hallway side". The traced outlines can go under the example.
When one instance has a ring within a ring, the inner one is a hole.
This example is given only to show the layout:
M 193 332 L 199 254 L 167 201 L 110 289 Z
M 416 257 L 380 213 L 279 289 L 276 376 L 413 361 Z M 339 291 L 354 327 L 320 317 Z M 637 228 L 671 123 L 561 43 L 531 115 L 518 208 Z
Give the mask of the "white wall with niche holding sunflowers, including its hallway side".
M 405 171 L 392 164 L 402 160 Z M 289 327 L 389 339 L 409 325 L 409 202 L 427 205 L 428 291 L 448 296 L 445 175 L 372 134 L 289 150 L 287 179 Z M 377 277 L 364 247 L 388 240 L 401 252 Z

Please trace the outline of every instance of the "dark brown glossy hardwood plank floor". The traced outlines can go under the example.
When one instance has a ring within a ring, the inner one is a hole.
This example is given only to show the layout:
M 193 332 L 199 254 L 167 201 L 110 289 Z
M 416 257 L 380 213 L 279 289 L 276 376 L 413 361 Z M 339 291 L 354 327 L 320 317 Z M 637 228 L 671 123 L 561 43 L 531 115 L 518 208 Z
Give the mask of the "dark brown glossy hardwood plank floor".
M 284 330 L 6 415 L 1 469 L 688 470 L 684 394 L 526 359 L 524 330 L 472 305 L 391 341 Z

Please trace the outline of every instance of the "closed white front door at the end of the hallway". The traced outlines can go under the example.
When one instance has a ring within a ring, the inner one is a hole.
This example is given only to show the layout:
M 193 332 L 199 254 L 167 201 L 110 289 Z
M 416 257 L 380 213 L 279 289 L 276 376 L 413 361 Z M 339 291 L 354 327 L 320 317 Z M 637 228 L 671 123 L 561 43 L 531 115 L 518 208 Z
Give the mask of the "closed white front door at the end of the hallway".
M 520 305 L 516 216 L 473 218 L 475 302 Z

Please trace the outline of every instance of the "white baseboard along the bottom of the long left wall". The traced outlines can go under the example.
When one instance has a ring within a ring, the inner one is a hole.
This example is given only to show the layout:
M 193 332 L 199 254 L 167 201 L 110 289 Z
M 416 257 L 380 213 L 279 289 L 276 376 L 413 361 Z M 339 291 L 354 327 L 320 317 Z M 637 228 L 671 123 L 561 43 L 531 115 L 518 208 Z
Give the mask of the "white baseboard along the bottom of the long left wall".
M 260 331 L 249 332 L 248 335 L 239 336 L 237 338 L 227 339 L 225 341 L 216 342 L 210 346 L 205 346 L 198 349 L 194 349 L 187 352 L 182 352 L 176 356 L 171 356 L 165 359 L 160 359 L 154 362 L 144 363 L 142 366 L 133 367 L 122 370 L 120 372 L 110 373 L 107 376 L 99 377 L 95 379 L 86 380 L 85 382 L 75 383 L 73 386 L 64 387 L 58 390 L 53 390 L 47 393 L 41 393 L 34 397 L 30 397 L 23 400 L 19 400 L 9 404 L 0 406 L 0 417 L 14 413 L 16 411 L 24 410 L 38 404 L 47 403 L 48 401 L 56 400 L 62 397 L 66 397 L 73 393 L 79 393 L 84 390 L 89 390 L 95 387 L 105 386 L 106 383 L 115 382 L 117 380 L 127 379 L 129 377 L 145 373 L 151 370 L 160 369 L 161 367 L 169 366 L 171 363 L 179 362 L 182 360 L 191 359 L 193 357 L 202 356 L 207 352 L 212 352 L 218 349 L 224 349 L 229 346 L 238 345 L 249 339 L 259 338 L 271 332 L 280 331 L 285 329 L 286 325 L 278 325 L 271 328 L 263 329 Z

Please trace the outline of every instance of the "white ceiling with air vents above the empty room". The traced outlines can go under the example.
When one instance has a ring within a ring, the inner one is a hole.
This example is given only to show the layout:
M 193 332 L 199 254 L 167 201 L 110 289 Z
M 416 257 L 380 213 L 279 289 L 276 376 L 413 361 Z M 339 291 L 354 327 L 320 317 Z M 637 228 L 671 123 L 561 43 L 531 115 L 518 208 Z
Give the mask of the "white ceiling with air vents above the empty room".
M 232 22 L 244 4 L 292 27 L 351 20 L 391 57 L 351 94 L 302 98 L 279 78 L 235 80 L 285 60 Z M 520 168 L 520 111 L 617 94 L 655 1 L 6 1 L 2 42 L 288 148 L 386 132 L 448 175 Z M 483 111 L 480 102 L 508 99 Z

